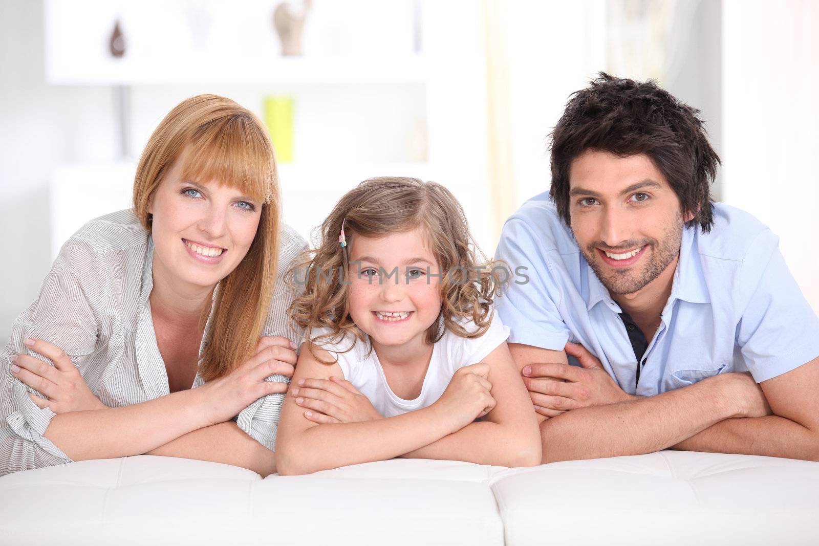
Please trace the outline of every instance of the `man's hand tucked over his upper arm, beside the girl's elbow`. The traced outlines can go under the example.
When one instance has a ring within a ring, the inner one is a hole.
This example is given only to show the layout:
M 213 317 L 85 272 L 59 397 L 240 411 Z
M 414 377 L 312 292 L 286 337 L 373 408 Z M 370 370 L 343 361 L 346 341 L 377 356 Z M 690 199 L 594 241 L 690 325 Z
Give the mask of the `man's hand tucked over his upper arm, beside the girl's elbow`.
M 567 343 L 582 368 L 563 363 L 533 363 L 523 368 L 523 382 L 535 411 L 556 417 L 570 409 L 614 404 L 636 396 L 627 395 L 614 382 L 595 355 L 576 343 Z

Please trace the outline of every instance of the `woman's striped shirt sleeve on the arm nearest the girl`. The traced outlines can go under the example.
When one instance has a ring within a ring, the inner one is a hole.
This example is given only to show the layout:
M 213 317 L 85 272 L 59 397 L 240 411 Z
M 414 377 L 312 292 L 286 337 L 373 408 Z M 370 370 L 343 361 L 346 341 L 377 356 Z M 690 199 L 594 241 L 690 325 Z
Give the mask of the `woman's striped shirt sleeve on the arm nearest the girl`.
M 298 344 L 301 343 L 302 332 L 298 328 L 294 331 L 295 324 L 292 323 L 287 314 L 287 309 L 296 298 L 298 287 L 287 276 L 287 273 L 296 265 L 299 255 L 306 249 L 307 244 L 291 228 L 286 228 L 286 230 L 289 237 L 287 244 L 283 245 L 280 250 L 281 255 L 274 285 L 274 295 L 270 300 L 269 314 L 262 330 L 262 336 L 283 336 Z M 283 233 L 285 233 L 284 230 Z M 268 377 L 265 381 L 289 383 L 290 379 L 277 373 Z M 236 424 L 251 438 L 273 451 L 276 448 L 278 417 L 282 413 L 283 401 L 283 394 L 267 395 L 260 398 L 239 413 Z

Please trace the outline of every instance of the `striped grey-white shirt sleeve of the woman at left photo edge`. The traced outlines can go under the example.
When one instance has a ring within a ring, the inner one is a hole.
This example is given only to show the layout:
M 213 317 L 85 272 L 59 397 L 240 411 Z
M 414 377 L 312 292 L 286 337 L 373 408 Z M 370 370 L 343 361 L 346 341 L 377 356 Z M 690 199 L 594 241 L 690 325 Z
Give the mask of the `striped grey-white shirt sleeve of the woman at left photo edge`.
M 38 338 L 57 345 L 83 371 L 97 344 L 98 320 L 93 302 L 104 298 L 108 282 L 104 260 L 87 243 L 70 239 L 43 281 L 37 300 L 11 327 L 11 339 L 0 353 L 0 475 L 70 463 L 71 459 L 43 434 L 54 413 L 40 409 L 28 393 L 39 395 L 8 372 L 12 354 L 29 354 L 51 363 L 23 343 Z

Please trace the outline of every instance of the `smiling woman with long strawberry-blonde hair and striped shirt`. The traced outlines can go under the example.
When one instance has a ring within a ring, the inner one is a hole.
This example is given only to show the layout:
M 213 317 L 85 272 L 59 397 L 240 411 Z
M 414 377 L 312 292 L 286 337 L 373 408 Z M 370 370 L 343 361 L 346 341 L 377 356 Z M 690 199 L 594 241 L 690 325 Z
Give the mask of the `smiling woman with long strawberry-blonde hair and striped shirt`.
M 0 474 L 140 453 L 275 472 L 297 339 L 283 275 L 305 247 L 279 218 L 251 112 L 215 95 L 170 111 L 133 210 L 70 237 L 12 327 Z

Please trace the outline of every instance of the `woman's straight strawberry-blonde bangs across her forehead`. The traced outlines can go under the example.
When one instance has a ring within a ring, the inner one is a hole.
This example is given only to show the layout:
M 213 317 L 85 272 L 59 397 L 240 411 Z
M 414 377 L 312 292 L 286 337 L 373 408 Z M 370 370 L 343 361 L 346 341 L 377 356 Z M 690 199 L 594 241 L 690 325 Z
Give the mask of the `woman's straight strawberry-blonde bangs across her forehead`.
M 260 203 L 275 199 L 276 174 L 267 136 L 247 122 L 211 125 L 188 145 L 183 178 L 235 187 Z

